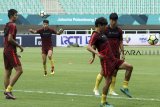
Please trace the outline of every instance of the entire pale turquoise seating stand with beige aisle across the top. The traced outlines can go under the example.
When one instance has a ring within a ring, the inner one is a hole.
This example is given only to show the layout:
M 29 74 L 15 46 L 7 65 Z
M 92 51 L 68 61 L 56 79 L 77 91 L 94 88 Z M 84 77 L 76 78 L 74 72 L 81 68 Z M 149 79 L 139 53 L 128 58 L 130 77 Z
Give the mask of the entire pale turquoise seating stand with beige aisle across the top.
M 37 14 L 159 14 L 160 0 L 0 0 L 0 13 L 15 8 Z

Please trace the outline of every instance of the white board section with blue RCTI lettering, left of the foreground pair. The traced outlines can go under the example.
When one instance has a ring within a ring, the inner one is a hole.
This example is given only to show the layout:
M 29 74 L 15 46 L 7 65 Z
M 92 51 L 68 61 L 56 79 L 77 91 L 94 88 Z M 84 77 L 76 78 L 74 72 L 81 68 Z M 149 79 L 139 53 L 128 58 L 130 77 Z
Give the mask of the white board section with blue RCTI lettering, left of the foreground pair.
M 72 44 L 79 44 L 79 46 L 86 46 L 89 42 L 90 34 L 62 34 L 57 36 L 57 46 L 66 47 Z

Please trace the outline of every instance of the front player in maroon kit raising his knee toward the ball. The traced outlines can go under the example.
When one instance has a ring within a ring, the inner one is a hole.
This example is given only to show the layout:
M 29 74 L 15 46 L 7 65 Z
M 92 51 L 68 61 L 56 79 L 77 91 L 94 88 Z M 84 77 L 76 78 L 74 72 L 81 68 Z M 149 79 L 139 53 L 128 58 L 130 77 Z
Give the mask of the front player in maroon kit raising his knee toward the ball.
M 125 81 L 129 81 L 132 74 L 133 66 L 128 64 L 127 62 L 124 62 L 123 60 L 115 58 L 115 56 L 113 55 L 111 47 L 107 40 L 107 36 L 105 35 L 106 25 L 107 20 L 104 17 L 96 19 L 96 29 L 92 33 L 87 50 L 90 51 L 93 55 L 97 55 L 100 58 L 103 70 L 102 75 L 106 80 L 101 97 L 101 107 L 113 107 L 106 101 L 108 89 L 112 81 L 112 75 L 114 74 L 115 69 L 125 69 Z M 93 46 L 96 47 L 98 52 L 93 48 Z M 126 93 L 128 93 L 129 96 L 130 94 L 128 88 L 125 88 L 124 90 Z

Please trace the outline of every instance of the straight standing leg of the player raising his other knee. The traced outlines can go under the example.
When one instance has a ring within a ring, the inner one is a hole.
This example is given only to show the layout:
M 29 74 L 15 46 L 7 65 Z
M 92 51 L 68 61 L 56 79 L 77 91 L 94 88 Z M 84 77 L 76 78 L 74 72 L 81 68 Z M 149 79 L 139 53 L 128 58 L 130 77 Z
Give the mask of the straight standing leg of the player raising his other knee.
M 105 85 L 104 85 L 103 90 L 102 90 L 100 107 L 113 107 L 112 105 L 110 105 L 107 102 L 107 94 L 108 94 L 108 90 L 109 90 L 109 87 L 110 87 L 110 84 L 111 84 L 111 81 L 112 81 L 112 77 L 110 77 L 110 76 L 105 77 L 105 81 L 106 82 L 105 82 Z

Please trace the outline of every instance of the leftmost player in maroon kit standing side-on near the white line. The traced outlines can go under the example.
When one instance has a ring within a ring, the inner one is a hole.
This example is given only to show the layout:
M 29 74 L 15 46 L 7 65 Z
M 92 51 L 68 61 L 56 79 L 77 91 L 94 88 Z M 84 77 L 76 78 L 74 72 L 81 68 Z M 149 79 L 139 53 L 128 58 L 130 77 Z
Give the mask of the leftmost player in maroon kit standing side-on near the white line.
M 16 81 L 19 79 L 23 73 L 21 62 L 17 56 L 16 48 L 20 48 L 23 52 L 22 46 L 16 42 L 16 33 L 17 28 L 15 21 L 17 20 L 17 11 L 15 9 L 8 10 L 9 22 L 4 28 L 4 66 L 5 66 L 5 77 L 4 77 L 4 86 L 5 86 L 5 96 L 6 99 L 15 99 L 12 94 L 12 88 L 15 85 Z M 11 79 L 12 69 L 16 70 L 15 75 Z

